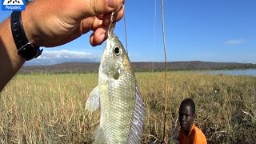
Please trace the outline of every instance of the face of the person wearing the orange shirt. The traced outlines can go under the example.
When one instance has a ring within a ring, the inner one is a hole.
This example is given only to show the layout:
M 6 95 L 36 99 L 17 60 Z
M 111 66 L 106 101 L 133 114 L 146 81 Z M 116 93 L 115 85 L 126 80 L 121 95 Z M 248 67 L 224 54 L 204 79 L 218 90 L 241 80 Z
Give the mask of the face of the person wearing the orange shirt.
M 191 106 L 180 106 L 178 113 L 178 121 L 180 123 L 181 129 L 185 132 L 185 134 L 190 134 L 190 130 L 194 123 L 194 114 L 192 114 Z

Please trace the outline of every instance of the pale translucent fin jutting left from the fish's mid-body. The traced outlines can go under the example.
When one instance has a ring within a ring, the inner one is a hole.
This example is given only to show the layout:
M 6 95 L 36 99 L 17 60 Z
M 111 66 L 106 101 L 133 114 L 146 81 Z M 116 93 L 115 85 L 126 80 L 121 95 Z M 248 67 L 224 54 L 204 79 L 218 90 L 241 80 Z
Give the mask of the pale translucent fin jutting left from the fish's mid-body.
M 90 112 L 94 112 L 95 110 L 97 110 L 99 107 L 99 98 L 100 98 L 100 93 L 99 93 L 98 86 L 96 86 L 94 90 L 90 92 L 89 98 L 87 99 L 87 102 L 86 102 L 86 109 L 90 110 Z

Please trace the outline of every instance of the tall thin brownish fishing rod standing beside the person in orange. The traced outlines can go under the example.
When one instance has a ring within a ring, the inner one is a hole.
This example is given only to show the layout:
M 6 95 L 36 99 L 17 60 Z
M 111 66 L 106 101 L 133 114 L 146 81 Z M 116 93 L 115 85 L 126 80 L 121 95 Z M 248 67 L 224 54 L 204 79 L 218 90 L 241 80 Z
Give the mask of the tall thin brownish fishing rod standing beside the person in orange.
M 163 127 L 163 142 L 166 142 L 166 113 L 167 113 L 167 62 L 166 62 L 166 37 L 165 37 L 165 22 L 164 22 L 164 12 L 163 12 L 163 0 L 162 0 L 162 40 L 163 40 L 163 50 L 165 54 L 165 118 Z

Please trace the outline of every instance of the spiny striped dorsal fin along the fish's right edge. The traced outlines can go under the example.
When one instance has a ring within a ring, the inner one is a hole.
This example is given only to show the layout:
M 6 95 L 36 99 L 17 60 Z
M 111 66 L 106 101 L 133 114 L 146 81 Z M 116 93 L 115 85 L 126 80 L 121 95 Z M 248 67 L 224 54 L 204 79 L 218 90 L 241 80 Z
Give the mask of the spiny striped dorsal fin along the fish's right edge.
M 138 90 L 138 85 L 136 84 L 134 118 L 133 122 L 131 123 L 130 134 L 127 143 L 141 143 L 145 115 L 146 111 L 144 108 L 142 96 Z

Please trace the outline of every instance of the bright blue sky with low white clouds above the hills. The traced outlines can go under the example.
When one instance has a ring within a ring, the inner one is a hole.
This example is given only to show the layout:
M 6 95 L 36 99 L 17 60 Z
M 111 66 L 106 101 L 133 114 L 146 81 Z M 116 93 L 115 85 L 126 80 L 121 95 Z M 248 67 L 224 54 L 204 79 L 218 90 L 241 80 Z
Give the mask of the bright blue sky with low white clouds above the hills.
M 255 0 L 126 0 L 125 18 L 114 33 L 131 62 L 206 61 L 256 63 Z M 11 11 L 0 11 L 0 22 Z M 125 33 L 126 26 L 126 33 Z M 58 62 L 99 62 L 106 42 L 90 46 L 90 33 L 63 46 L 43 48 L 38 65 Z

